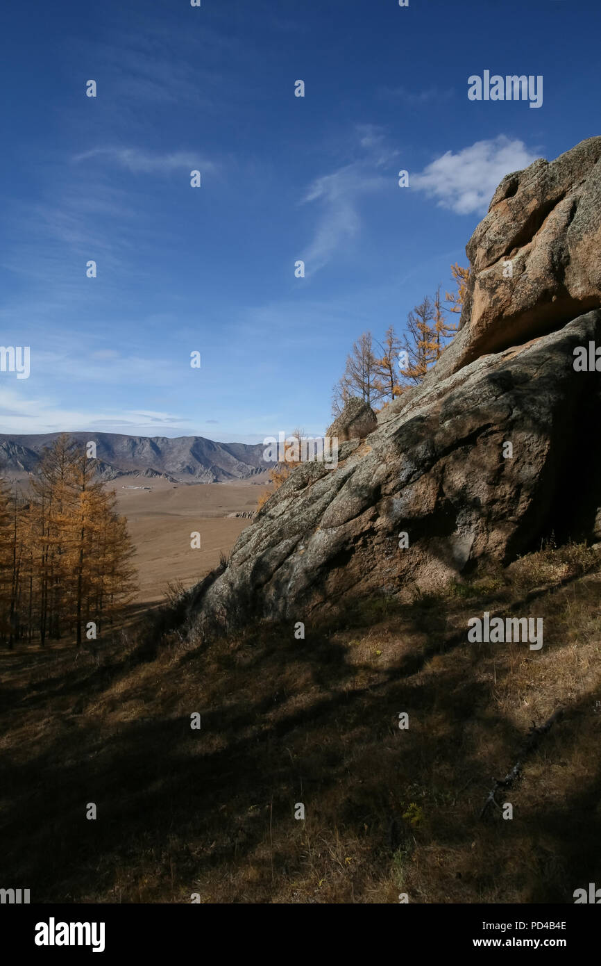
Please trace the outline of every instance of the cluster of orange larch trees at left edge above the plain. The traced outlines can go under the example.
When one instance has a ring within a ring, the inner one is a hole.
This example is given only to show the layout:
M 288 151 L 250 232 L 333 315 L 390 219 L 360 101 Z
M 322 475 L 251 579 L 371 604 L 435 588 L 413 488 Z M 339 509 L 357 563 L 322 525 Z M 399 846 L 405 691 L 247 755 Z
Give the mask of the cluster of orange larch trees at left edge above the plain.
M 0 640 L 97 639 L 135 590 L 116 496 L 67 435 L 25 492 L 0 488 Z

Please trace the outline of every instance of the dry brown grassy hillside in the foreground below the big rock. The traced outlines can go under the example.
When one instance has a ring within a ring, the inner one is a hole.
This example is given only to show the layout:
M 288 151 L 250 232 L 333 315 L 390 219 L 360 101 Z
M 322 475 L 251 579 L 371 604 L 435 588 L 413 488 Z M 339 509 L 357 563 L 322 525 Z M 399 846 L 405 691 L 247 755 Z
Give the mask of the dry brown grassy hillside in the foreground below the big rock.
M 96 657 L 3 652 L 5 884 L 32 901 L 572 902 L 599 877 L 600 588 L 599 555 L 571 546 L 410 606 L 358 603 L 304 640 L 291 623 L 198 645 L 167 614 L 155 643 L 144 627 Z M 543 617 L 542 650 L 468 643 L 483 611 Z M 513 819 L 479 818 L 520 756 L 497 794 Z

